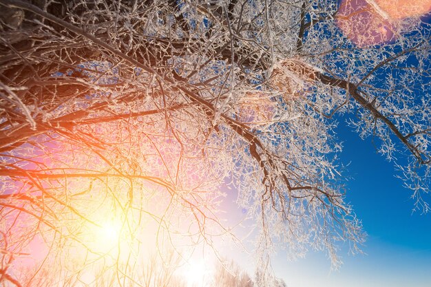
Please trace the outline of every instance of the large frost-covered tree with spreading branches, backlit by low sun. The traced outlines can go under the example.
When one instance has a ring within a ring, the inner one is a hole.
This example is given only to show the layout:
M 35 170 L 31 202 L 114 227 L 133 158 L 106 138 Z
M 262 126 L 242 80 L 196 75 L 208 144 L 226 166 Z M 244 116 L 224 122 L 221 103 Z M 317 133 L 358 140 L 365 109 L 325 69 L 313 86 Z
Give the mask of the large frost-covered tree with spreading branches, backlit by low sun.
M 260 266 L 337 266 L 340 115 L 428 211 L 431 5 L 389 2 L 0 0 L 1 284 L 151 286 L 149 253 L 235 240 L 228 183 Z

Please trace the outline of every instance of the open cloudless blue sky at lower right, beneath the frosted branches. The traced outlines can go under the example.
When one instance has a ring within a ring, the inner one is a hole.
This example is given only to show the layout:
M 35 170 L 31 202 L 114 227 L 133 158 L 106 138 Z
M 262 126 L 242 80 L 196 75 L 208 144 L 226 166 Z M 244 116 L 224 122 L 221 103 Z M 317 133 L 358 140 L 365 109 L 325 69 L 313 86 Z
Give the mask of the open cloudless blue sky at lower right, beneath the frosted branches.
M 276 275 L 289 287 L 430 287 L 431 214 L 412 213 L 410 191 L 370 139 L 361 140 L 344 123 L 337 132 L 344 142 L 341 160 L 350 162 L 345 175 L 353 178 L 346 198 L 368 233 L 366 255 L 341 250 L 344 265 L 331 272 L 324 253 L 295 262 L 280 253 L 273 262 Z

